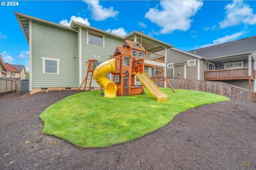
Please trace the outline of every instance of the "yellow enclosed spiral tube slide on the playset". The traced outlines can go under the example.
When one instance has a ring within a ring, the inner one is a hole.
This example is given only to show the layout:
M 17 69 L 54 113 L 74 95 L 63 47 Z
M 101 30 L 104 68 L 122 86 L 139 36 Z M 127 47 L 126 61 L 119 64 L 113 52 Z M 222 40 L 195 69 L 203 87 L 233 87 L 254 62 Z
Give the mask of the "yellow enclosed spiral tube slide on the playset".
M 106 77 L 108 72 L 115 71 L 115 59 L 110 59 L 98 65 L 94 70 L 94 80 L 105 89 L 105 98 L 115 98 L 117 87 L 114 82 Z

